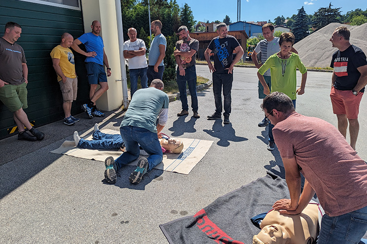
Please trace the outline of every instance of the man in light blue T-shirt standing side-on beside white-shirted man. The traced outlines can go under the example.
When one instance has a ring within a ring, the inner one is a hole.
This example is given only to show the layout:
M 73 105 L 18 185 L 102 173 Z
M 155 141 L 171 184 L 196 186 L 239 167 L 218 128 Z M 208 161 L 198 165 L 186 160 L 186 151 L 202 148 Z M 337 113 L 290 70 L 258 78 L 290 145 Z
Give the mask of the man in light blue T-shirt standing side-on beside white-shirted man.
M 153 79 L 163 78 L 164 64 L 163 59 L 166 56 L 166 37 L 161 33 L 162 22 L 160 20 L 154 20 L 151 22 L 151 32 L 155 35 L 150 43 L 149 56 L 148 56 L 148 70 L 147 77 L 149 83 Z

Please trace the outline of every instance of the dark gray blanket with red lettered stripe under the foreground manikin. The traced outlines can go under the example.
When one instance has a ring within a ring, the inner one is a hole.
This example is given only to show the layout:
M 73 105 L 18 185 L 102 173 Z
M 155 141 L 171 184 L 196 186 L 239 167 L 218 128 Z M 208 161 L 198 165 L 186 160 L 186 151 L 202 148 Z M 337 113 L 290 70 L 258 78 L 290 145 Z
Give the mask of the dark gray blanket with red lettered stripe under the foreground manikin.
M 219 197 L 194 216 L 159 227 L 170 244 L 248 244 L 259 232 L 250 218 L 289 197 L 286 181 L 268 171 L 266 176 Z

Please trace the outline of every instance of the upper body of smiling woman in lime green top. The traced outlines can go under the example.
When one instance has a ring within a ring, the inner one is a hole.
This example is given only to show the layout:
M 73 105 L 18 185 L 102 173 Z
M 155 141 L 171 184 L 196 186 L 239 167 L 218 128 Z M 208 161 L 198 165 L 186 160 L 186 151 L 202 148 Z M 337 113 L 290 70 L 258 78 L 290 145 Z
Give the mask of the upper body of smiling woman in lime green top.
M 294 44 L 294 35 L 292 33 L 282 33 L 279 38 L 280 52 L 271 55 L 266 62 L 258 69 L 257 76 L 264 87 L 264 94 L 270 93 L 263 74 L 270 68 L 271 92 L 283 92 L 292 100 L 296 99 L 296 94 L 302 95 L 306 85 L 307 69 L 301 62 L 299 56 L 291 49 Z M 301 87 L 296 89 L 296 69 L 301 72 Z

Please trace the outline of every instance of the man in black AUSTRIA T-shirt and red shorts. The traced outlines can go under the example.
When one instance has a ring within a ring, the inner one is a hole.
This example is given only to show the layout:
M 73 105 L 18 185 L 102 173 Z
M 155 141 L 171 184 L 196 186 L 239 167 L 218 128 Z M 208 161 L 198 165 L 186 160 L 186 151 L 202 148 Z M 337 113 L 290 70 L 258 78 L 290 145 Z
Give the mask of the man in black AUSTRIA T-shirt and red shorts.
M 350 32 L 340 26 L 332 33 L 332 46 L 338 48 L 332 55 L 330 67 L 332 110 L 338 119 L 338 129 L 347 137 L 349 121 L 350 145 L 355 150 L 359 132 L 358 113 L 367 85 L 367 61 L 365 53 L 349 42 Z

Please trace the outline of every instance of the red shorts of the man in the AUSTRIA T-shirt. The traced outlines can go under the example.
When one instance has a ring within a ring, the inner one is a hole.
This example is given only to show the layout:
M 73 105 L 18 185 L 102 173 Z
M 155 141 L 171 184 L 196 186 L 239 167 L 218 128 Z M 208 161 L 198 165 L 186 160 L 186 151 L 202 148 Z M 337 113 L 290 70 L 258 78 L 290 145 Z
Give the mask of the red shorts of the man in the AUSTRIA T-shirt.
M 362 96 L 363 92 L 356 96 L 351 90 L 341 91 L 332 87 L 330 98 L 333 113 L 346 114 L 348 119 L 357 119 Z

